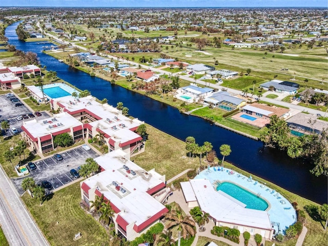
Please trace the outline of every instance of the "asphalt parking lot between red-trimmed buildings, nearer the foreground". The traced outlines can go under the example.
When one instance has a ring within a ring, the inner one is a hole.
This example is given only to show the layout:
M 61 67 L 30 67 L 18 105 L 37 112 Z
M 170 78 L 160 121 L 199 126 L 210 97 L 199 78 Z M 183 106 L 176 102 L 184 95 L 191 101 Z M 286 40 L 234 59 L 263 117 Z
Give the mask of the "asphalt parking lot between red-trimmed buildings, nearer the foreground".
M 61 153 L 61 156 L 63 156 L 63 160 L 60 161 L 57 161 L 53 156 L 35 161 L 36 170 L 31 171 L 27 167 L 30 171 L 29 177 L 33 177 L 37 185 L 40 185 L 43 180 L 47 180 L 54 189 L 57 189 L 74 180 L 74 177 L 70 175 L 71 169 L 76 170 L 77 167 L 85 163 L 87 158 L 95 158 L 99 155 L 92 149 L 85 150 L 82 147 L 77 147 Z M 26 178 L 26 176 L 11 179 L 19 194 L 24 193 L 22 189 L 22 181 L 24 178 Z M 46 194 L 49 194 L 49 191 L 46 191 Z

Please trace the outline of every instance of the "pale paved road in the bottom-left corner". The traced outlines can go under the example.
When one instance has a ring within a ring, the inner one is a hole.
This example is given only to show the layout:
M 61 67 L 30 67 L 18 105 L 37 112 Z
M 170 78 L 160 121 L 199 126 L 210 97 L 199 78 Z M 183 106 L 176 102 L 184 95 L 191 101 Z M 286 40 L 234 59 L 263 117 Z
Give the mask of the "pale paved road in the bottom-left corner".
M 0 223 L 12 246 L 50 245 L 0 167 Z

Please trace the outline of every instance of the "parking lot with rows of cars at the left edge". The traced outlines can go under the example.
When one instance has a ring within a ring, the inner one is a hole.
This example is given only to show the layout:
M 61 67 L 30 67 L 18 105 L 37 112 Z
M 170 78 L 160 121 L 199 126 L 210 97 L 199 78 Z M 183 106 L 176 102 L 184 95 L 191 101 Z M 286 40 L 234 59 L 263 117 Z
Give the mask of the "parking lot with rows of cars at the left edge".
M 6 97 L 6 95 L 1 95 L 0 96 L 0 119 L 8 119 L 9 124 L 10 124 L 10 128 L 7 130 L 7 132 L 3 131 L 3 135 L 7 135 L 7 136 L 11 136 L 14 133 L 12 132 L 11 128 L 16 128 L 19 132 L 22 132 L 22 129 L 20 128 L 23 125 L 23 121 L 28 121 L 28 120 L 32 120 L 32 119 L 36 119 L 36 120 L 41 120 L 41 119 L 45 119 L 45 118 L 49 118 L 51 117 L 50 115 L 48 115 L 46 112 L 40 112 L 42 115 L 41 116 L 35 116 L 33 118 L 28 117 L 27 119 L 18 119 L 17 116 L 22 116 L 22 115 L 28 115 L 30 113 L 32 113 L 25 105 L 20 106 L 20 107 L 15 107 L 15 104 L 17 103 L 22 103 L 24 104 L 24 102 L 18 101 L 15 103 L 12 103 L 10 101 L 11 98 L 15 98 L 15 97 Z

